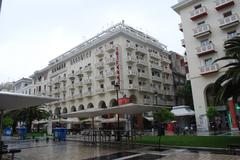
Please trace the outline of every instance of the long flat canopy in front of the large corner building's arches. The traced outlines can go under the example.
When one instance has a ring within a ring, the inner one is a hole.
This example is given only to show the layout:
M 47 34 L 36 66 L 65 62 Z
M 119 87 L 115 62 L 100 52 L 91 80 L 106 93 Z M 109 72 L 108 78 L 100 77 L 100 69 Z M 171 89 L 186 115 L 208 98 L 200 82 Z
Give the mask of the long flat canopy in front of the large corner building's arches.
M 141 104 L 125 104 L 116 107 L 100 109 L 100 108 L 91 108 L 82 111 L 62 114 L 62 117 L 97 117 L 107 114 L 139 114 L 144 112 L 150 112 L 154 110 L 158 110 L 161 107 L 159 106 L 152 106 L 152 105 L 141 105 Z

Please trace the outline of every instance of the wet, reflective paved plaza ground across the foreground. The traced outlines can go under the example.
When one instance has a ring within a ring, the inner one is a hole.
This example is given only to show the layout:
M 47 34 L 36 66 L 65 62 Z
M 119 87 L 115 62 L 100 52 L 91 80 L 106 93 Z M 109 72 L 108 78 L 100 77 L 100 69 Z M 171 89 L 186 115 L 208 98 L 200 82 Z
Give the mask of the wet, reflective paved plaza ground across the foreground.
M 90 145 L 81 142 L 26 141 L 8 142 L 10 148 L 20 148 L 17 160 L 240 160 L 240 156 L 213 154 L 210 152 L 191 152 L 186 149 L 168 149 L 162 152 L 153 147 L 121 145 Z

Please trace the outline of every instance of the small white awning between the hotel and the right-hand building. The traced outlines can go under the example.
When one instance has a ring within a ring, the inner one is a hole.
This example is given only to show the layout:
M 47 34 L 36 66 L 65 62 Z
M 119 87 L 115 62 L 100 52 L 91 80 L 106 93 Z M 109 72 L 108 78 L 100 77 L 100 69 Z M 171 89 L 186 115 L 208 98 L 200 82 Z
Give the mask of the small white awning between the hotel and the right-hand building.
M 195 112 L 190 109 L 190 106 L 175 106 L 171 112 L 176 116 L 194 116 Z

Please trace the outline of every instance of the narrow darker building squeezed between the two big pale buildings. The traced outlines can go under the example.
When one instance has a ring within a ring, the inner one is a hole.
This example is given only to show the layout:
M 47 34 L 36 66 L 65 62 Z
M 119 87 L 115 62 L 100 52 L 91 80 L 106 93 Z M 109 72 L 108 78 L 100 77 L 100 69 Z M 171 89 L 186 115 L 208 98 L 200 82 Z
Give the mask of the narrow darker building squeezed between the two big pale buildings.
M 171 68 L 173 75 L 173 86 L 175 93 L 186 84 L 186 64 L 184 57 L 176 52 L 170 51 Z M 185 104 L 184 98 L 175 94 L 175 103 L 177 106 Z

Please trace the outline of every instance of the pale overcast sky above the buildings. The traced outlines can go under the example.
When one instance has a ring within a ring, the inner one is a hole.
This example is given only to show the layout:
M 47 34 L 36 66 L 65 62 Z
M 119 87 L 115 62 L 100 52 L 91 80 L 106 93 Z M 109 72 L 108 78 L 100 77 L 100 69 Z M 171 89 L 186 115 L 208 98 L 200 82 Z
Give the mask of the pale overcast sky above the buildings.
M 0 82 L 34 71 L 113 24 L 125 20 L 183 54 L 177 0 L 3 0 Z

